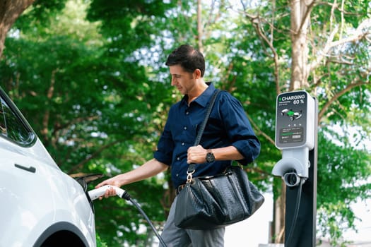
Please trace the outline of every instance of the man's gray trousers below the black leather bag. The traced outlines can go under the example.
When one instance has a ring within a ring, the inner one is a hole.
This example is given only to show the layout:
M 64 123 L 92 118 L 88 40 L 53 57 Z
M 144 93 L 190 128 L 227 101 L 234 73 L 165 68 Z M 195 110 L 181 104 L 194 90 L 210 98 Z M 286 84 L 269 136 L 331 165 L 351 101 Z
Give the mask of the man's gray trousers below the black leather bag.
M 165 222 L 161 237 L 167 247 L 223 247 L 225 228 L 211 230 L 182 229 L 175 226 L 175 205 L 177 198 L 170 207 L 169 217 Z M 160 244 L 160 246 L 162 246 Z M 163 247 L 163 246 L 162 246 Z

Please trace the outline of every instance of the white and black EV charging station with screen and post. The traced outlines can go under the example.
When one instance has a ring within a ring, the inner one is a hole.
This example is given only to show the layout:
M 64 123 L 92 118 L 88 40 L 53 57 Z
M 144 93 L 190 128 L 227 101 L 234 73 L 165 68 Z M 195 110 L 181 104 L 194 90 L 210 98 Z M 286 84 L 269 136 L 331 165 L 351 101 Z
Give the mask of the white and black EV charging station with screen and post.
M 276 101 L 276 147 L 282 159 L 272 174 L 286 185 L 285 247 L 316 245 L 318 102 L 305 91 Z

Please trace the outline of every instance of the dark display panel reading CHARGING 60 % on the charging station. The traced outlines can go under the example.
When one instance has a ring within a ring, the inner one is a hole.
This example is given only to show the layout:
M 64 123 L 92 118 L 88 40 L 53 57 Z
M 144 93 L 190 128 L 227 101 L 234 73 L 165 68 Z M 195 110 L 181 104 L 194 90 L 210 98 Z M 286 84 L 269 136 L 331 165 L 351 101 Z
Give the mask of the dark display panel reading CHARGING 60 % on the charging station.
M 300 147 L 306 143 L 307 97 L 305 91 L 285 92 L 277 97 L 276 146 Z

